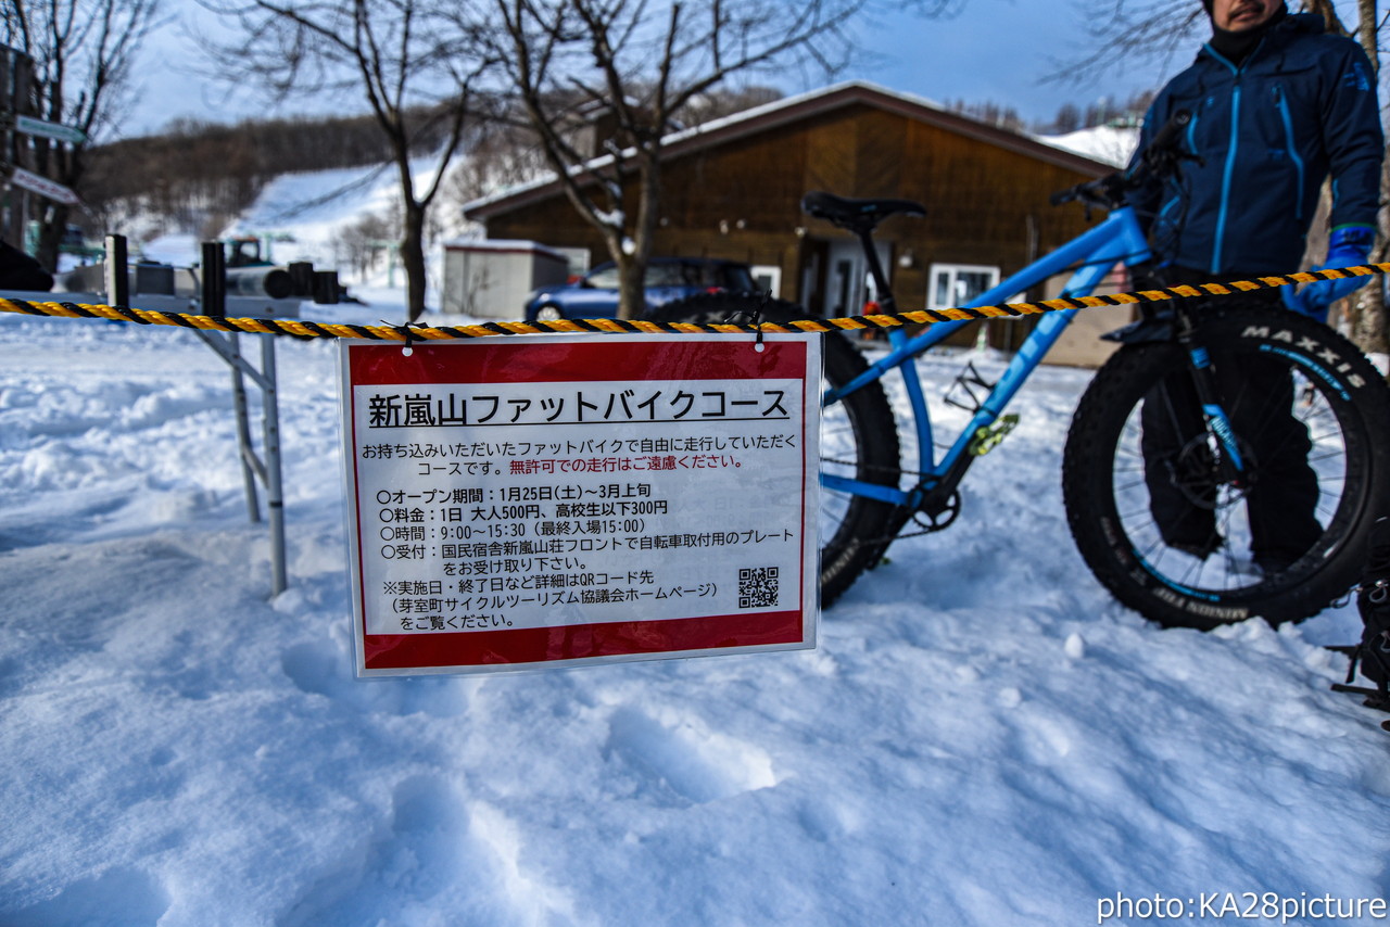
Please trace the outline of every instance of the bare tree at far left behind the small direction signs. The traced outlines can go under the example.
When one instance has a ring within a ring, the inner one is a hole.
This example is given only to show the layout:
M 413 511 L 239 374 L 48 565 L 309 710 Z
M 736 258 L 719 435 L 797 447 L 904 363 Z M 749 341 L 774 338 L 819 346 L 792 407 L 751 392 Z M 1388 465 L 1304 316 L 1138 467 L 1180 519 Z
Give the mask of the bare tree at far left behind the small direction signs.
M 28 140 L 33 170 L 82 193 L 86 151 L 122 115 L 140 44 L 158 22 L 160 0 L 7 0 L 0 42 L 33 58 L 32 111 L 79 129 L 86 140 Z M 39 220 L 38 259 L 56 268 L 71 207 L 50 203 Z

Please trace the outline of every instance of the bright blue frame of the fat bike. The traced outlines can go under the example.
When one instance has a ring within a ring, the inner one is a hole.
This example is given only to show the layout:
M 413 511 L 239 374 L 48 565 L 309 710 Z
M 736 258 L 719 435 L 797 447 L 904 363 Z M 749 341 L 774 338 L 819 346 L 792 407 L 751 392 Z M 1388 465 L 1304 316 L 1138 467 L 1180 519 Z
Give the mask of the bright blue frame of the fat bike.
M 863 236 L 866 243 L 866 259 L 869 270 L 874 277 L 881 295 L 883 311 L 895 313 L 892 289 L 888 286 L 887 275 L 878 264 L 877 253 L 869 243 L 869 236 Z M 1063 296 L 1087 296 L 1105 279 L 1106 274 L 1119 264 L 1138 264 L 1150 259 L 1148 242 L 1138 227 L 1133 207 L 1123 206 L 1109 213 L 1104 222 L 1088 232 L 1079 235 L 1058 250 L 1029 264 L 1013 274 L 994 289 L 981 293 L 966 309 L 979 306 L 994 306 L 1006 302 L 1011 296 L 1027 290 L 1048 278 L 1066 271 L 1069 267 L 1077 270 L 1072 274 L 1062 290 Z M 1019 388 L 1029 378 L 1033 370 L 1041 363 L 1047 352 L 1056 343 L 1062 331 L 1072 322 L 1079 310 L 1062 310 L 1047 313 L 1038 320 L 1037 328 L 1027 336 L 1017 353 L 1009 361 L 1008 368 L 998 382 L 990 389 L 988 396 L 976 410 L 970 423 L 956 436 L 955 442 L 945 450 L 940 460 L 935 459 L 935 446 L 931 435 L 931 416 L 927 409 L 926 396 L 922 389 L 922 379 L 917 375 L 916 364 L 912 363 L 919 354 L 940 345 L 954 332 L 959 331 L 969 321 L 938 322 L 927 328 L 923 334 L 909 338 L 901 328 L 888 329 L 888 354 L 876 361 L 869 370 L 847 384 L 838 391 L 827 391 L 821 397 L 821 404 L 828 406 L 853 391 L 883 378 L 890 370 L 898 368 L 903 378 L 908 400 L 917 435 L 917 473 L 916 484 L 909 489 L 901 486 L 885 486 L 834 474 L 821 474 L 821 485 L 827 489 L 866 496 L 881 502 L 903 506 L 910 510 L 923 507 L 923 500 L 929 493 L 938 493 L 940 498 L 955 491 L 974 459 L 969 453 L 972 441 L 981 429 L 988 429 Z

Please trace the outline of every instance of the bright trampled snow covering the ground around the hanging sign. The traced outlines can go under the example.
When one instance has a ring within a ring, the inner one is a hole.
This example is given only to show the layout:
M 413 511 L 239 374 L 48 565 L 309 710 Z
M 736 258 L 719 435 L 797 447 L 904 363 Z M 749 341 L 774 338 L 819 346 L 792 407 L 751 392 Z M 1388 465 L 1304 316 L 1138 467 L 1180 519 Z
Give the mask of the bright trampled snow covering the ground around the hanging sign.
M 359 292 L 306 315 L 402 315 Z M 1390 741 L 1319 646 L 1354 613 L 1115 605 L 1061 507 L 1086 371 L 1040 371 L 960 521 L 895 543 L 813 652 L 357 681 L 335 346 L 278 357 L 270 599 L 221 361 L 0 315 L 6 927 L 994 927 L 1155 892 L 1234 924 L 1241 892 L 1390 888 Z

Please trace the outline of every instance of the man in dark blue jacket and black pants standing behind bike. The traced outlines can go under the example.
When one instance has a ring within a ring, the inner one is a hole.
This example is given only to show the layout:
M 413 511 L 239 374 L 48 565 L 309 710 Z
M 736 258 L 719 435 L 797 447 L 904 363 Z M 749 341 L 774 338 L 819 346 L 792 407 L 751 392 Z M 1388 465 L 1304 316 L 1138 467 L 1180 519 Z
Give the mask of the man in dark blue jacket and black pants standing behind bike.
M 1290 15 L 1284 0 L 1202 0 L 1212 38 L 1197 60 L 1154 100 L 1140 151 L 1169 117 L 1193 118 L 1177 171 L 1131 202 L 1148 224 L 1159 285 L 1230 281 L 1297 270 L 1318 196 L 1332 177 L 1332 215 L 1323 267 L 1364 264 L 1375 239 L 1384 139 L 1375 75 L 1361 47 L 1323 31 L 1322 17 Z M 1136 160 L 1138 156 L 1136 156 Z M 1329 306 L 1364 284 L 1322 281 L 1301 290 L 1262 290 L 1275 304 L 1326 321 Z M 1261 460 L 1247 498 L 1251 555 L 1266 573 L 1308 550 L 1322 527 L 1318 482 L 1307 463 L 1307 429 L 1293 417 L 1293 384 L 1283 364 L 1234 372 L 1266 396 L 1261 421 L 1244 438 Z M 1225 371 L 1220 381 L 1232 377 Z M 1223 392 L 1234 384 L 1220 382 Z M 1144 403 L 1144 453 L 1151 509 L 1165 542 L 1198 559 L 1223 539 L 1209 500 L 1194 503 L 1175 467 L 1201 434 L 1194 389 L 1170 378 Z

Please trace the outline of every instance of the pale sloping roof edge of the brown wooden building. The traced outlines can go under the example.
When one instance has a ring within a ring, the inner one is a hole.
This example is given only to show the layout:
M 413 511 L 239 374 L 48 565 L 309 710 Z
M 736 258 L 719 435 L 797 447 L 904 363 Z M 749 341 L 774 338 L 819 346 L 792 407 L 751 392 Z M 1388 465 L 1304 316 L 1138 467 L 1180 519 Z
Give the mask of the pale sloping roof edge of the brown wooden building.
M 1105 161 L 1068 151 L 1031 136 L 1020 135 L 1011 129 L 1001 129 L 959 113 L 951 113 L 941 104 L 924 97 L 898 93 L 865 81 L 837 83 L 810 93 L 744 110 L 742 113 L 705 122 L 691 129 L 673 132 L 663 142 L 662 158 L 681 157 L 849 106 L 870 106 L 885 113 L 897 113 L 909 120 L 917 120 L 1080 174 L 1099 177 L 1112 170 L 1112 165 Z M 585 171 L 599 170 L 612 163 L 613 156 L 594 158 L 585 165 Z M 471 220 L 486 220 L 492 215 L 559 195 L 560 182 L 550 174 L 546 178 L 466 203 L 463 213 Z

